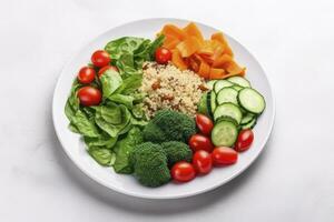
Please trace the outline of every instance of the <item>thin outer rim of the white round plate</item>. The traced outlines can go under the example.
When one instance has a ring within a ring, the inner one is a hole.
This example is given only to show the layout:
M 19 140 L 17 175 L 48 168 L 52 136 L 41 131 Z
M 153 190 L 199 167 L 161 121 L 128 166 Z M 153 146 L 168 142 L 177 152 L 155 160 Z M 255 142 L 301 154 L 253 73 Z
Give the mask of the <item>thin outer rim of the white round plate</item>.
M 56 132 L 56 135 L 62 147 L 62 150 L 63 152 L 66 153 L 66 155 L 75 163 L 75 165 L 88 178 L 90 178 L 92 181 L 97 182 L 99 185 L 102 185 L 105 188 L 107 188 L 108 190 L 112 190 L 117 193 L 121 193 L 121 194 L 126 194 L 128 196 L 135 196 L 135 198 L 140 198 L 140 199 L 151 199 L 151 200 L 170 200 L 170 199 L 183 199 L 183 198 L 188 198 L 188 196 L 194 196 L 194 195 L 198 195 L 198 194 L 202 194 L 202 193 L 206 193 L 206 192 L 209 192 L 209 191 L 213 191 L 226 183 L 228 183 L 229 181 L 232 181 L 233 179 L 237 178 L 239 174 L 242 174 L 243 172 L 245 172 L 253 163 L 255 160 L 258 159 L 258 157 L 261 155 L 261 153 L 264 151 L 265 149 L 265 145 L 273 132 L 273 128 L 274 128 L 274 124 L 275 124 L 275 115 L 276 115 L 276 99 L 275 99 L 275 95 L 274 95 L 274 90 L 273 90 L 273 87 L 271 84 L 271 79 L 268 78 L 268 75 L 266 74 L 267 72 L 264 70 L 263 65 L 258 62 L 257 58 L 244 46 L 237 39 L 230 37 L 229 34 L 226 34 L 224 32 L 224 34 L 226 34 L 227 37 L 232 38 L 233 40 L 235 40 L 239 46 L 242 46 L 257 62 L 258 67 L 261 68 L 261 70 L 264 72 L 266 79 L 267 79 L 267 82 L 268 82 L 268 88 L 271 90 L 271 95 L 272 95 L 272 109 L 273 109 L 273 112 L 272 114 L 269 115 L 269 121 L 271 121 L 271 125 L 269 125 L 269 130 L 266 132 L 266 135 L 265 135 L 265 139 L 263 140 L 263 142 L 259 144 L 261 149 L 257 153 L 255 153 L 253 157 L 252 157 L 252 160 L 248 162 L 248 164 L 244 165 L 243 168 L 240 168 L 237 172 L 235 172 L 234 174 L 232 174 L 230 176 L 226 178 L 224 181 L 222 182 L 218 182 L 216 183 L 215 185 L 212 185 L 212 186 L 208 186 L 207 189 L 200 189 L 196 192 L 189 192 L 189 193 L 184 193 L 184 194 L 178 194 L 178 195 L 170 195 L 170 196 L 157 196 L 157 195 L 149 195 L 149 194 L 138 194 L 137 192 L 131 192 L 131 191 L 128 191 L 128 190 L 122 190 L 122 189 L 119 189 L 112 184 L 109 184 L 107 182 L 105 182 L 104 180 L 101 180 L 99 176 L 88 172 L 88 170 L 86 170 L 85 168 L 82 168 L 80 164 L 77 163 L 77 160 L 75 160 L 75 158 L 69 153 L 69 151 L 67 149 L 65 149 L 65 142 L 62 140 L 62 138 L 60 137 L 59 134 L 59 131 L 57 129 L 57 123 L 56 123 L 56 92 L 58 90 L 58 88 L 60 87 L 60 80 L 61 80 L 61 77 L 65 74 L 65 70 L 75 61 L 75 59 L 79 56 L 80 51 L 82 51 L 85 49 L 85 47 L 91 44 L 96 39 L 98 39 L 99 37 L 108 33 L 110 30 L 112 29 L 117 29 L 117 28 L 120 28 L 122 26 L 129 26 L 131 23 L 137 23 L 137 22 L 145 22 L 145 21 L 150 21 L 150 20 L 164 20 L 166 22 L 173 22 L 173 21 L 181 21 L 181 22 L 195 22 L 197 24 L 200 24 L 200 26 L 205 26 L 205 27 L 209 27 L 209 28 L 213 28 L 213 29 L 216 29 L 216 30 L 219 30 L 220 29 L 217 29 L 215 27 L 212 27 L 212 26 L 208 26 L 208 24 L 205 24 L 203 22 L 198 22 L 196 20 L 188 20 L 188 19 L 177 19 L 177 18 L 147 18 L 147 19 L 138 19 L 138 20 L 131 20 L 131 21 L 128 21 L 128 22 L 124 22 L 124 23 L 120 23 L 118 26 L 115 26 L 115 27 L 111 27 L 109 29 L 107 29 L 106 31 L 97 34 L 96 37 L 94 37 L 92 39 L 90 39 L 89 41 L 87 41 L 86 43 L 84 43 L 81 47 L 79 47 L 78 50 L 76 50 L 76 52 L 70 57 L 70 59 L 68 60 L 68 62 L 66 62 L 62 67 L 62 69 L 60 70 L 60 74 L 59 77 L 57 78 L 57 83 L 56 83 L 56 87 L 55 87 L 55 90 L 53 90 L 53 95 L 52 95 L 52 124 L 53 124 L 53 128 L 55 128 L 55 132 Z

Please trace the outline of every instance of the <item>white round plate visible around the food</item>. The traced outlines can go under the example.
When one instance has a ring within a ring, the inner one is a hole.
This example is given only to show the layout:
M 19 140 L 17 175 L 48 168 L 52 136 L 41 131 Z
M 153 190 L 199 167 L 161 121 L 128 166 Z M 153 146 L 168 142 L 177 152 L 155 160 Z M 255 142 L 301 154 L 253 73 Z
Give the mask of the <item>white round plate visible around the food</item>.
M 95 50 L 102 49 L 110 40 L 125 36 L 153 39 L 166 23 L 185 26 L 188 22 L 189 21 L 179 19 L 148 19 L 126 23 L 110 29 L 81 49 L 62 70 L 55 89 L 52 103 L 52 118 L 56 132 L 68 157 L 82 172 L 98 183 L 120 193 L 146 199 L 178 199 L 196 195 L 223 185 L 240 174 L 253 163 L 264 149 L 264 145 L 271 134 L 275 115 L 272 89 L 264 70 L 261 68 L 256 59 L 240 43 L 227 34 L 226 37 L 235 52 L 236 61 L 247 68 L 247 79 L 250 80 L 252 85 L 254 85 L 254 88 L 257 89 L 266 100 L 266 110 L 258 119 L 254 129 L 254 143 L 248 151 L 239 154 L 239 159 L 236 164 L 226 168 L 216 168 L 208 175 L 197 176 L 188 183 L 175 184 L 170 182 L 160 188 L 145 188 L 131 175 L 117 174 L 111 168 L 100 167 L 86 152 L 85 144 L 82 140 L 80 140 L 80 137 L 69 131 L 69 121 L 63 113 L 66 100 L 79 68 L 89 62 L 90 56 Z M 197 26 L 206 38 L 218 31 L 217 29 L 202 23 L 197 23 Z

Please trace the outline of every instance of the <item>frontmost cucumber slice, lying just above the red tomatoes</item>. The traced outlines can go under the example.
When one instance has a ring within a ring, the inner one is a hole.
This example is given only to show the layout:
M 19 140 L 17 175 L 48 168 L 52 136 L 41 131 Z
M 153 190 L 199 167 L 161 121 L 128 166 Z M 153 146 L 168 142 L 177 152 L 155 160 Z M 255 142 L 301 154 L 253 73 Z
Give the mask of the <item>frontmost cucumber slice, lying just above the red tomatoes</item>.
M 237 125 L 228 120 L 219 121 L 212 131 L 212 141 L 215 147 L 233 147 L 237 137 Z

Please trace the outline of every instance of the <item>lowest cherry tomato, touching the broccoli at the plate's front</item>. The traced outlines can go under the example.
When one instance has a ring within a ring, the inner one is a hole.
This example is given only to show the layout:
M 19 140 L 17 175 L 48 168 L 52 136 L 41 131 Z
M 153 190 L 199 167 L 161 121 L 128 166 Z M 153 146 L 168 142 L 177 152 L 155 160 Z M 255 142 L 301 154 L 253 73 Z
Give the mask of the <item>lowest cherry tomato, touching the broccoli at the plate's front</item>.
M 180 161 L 175 163 L 170 170 L 170 174 L 171 178 L 177 182 L 187 182 L 195 178 L 196 172 L 190 163 Z

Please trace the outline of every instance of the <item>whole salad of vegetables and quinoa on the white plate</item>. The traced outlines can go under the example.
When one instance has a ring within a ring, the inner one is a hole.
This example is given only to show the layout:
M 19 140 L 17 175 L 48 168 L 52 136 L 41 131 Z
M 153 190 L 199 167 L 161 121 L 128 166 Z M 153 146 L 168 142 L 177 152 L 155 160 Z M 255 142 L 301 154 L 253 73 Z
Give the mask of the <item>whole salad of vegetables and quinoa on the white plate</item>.
M 185 183 L 252 147 L 266 103 L 245 75 L 222 32 L 165 24 L 154 40 L 122 37 L 95 51 L 65 113 L 101 167 L 145 186 Z

